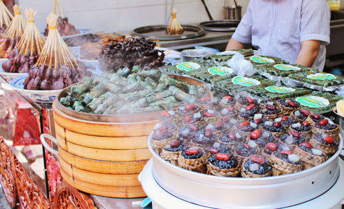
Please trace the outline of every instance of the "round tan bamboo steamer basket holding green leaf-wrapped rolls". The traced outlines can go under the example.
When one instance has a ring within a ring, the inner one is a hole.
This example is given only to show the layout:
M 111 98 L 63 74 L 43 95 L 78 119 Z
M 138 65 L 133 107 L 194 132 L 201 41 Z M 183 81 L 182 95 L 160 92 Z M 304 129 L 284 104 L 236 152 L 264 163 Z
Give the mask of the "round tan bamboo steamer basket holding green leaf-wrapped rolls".
M 169 75 L 192 85 L 199 80 Z M 138 175 L 151 158 L 147 138 L 160 111 L 135 115 L 96 115 L 68 109 L 59 102 L 52 109 L 61 175 L 68 184 L 105 197 L 145 197 Z

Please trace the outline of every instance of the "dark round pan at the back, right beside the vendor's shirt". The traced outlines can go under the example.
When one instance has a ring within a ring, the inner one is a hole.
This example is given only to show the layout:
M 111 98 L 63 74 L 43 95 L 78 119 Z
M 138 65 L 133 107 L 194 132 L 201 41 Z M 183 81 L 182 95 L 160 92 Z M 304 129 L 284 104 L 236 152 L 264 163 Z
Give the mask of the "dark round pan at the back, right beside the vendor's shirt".
M 239 20 L 217 20 L 202 22 L 200 25 L 206 31 L 233 32 L 237 29 L 239 22 Z

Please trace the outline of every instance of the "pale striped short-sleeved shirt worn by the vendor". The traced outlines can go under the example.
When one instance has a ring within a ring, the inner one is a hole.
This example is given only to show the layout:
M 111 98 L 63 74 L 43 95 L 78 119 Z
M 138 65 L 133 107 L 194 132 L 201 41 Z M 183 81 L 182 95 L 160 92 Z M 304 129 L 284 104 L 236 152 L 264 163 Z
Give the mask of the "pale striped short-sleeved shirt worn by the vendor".
M 251 0 L 232 37 L 252 43 L 257 54 L 290 63 L 295 63 L 302 41 L 321 41 L 313 67 L 322 71 L 330 43 L 330 8 L 326 0 Z

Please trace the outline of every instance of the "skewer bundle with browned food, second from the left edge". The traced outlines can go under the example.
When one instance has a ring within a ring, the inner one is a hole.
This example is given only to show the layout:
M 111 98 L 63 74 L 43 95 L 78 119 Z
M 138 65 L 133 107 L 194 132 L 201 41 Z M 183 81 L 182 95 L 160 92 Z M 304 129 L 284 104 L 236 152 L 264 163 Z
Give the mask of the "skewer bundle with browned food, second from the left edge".
M 26 27 L 26 21 L 21 16 L 19 5 L 14 5 L 13 10 L 14 18 L 3 33 L 3 39 L 0 42 L 0 58 L 7 58 L 10 52 L 14 50 Z

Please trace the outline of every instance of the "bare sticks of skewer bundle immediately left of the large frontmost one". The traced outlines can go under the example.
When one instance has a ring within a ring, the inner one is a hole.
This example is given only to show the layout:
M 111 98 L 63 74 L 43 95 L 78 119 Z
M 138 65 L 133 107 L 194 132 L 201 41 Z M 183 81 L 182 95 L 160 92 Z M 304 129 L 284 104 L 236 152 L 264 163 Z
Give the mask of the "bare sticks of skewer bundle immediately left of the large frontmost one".
M 19 55 L 28 55 L 30 52 L 30 56 L 32 56 L 35 52 L 37 52 L 37 54 L 41 54 L 43 50 L 45 40 L 43 39 L 41 32 L 39 32 L 39 29 L 34 24 L 34 17 L 36 14 L 37 11 L 32 8 L 29 10 L 25 9 L 28 26 L 25 28 L 23 36 L 21 36 L 21 40 L 17 45 Z

